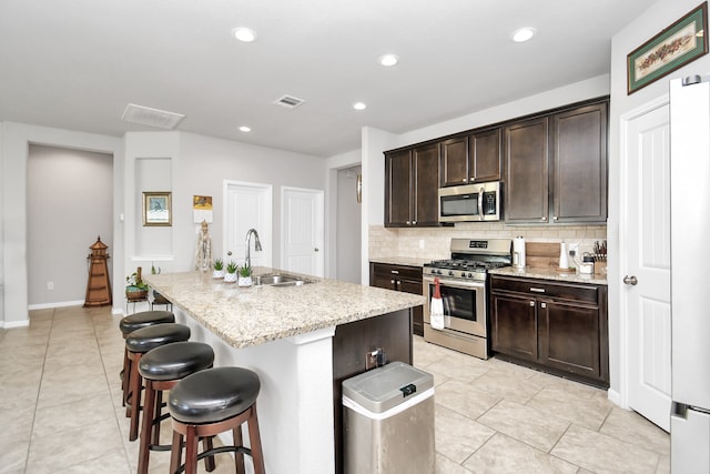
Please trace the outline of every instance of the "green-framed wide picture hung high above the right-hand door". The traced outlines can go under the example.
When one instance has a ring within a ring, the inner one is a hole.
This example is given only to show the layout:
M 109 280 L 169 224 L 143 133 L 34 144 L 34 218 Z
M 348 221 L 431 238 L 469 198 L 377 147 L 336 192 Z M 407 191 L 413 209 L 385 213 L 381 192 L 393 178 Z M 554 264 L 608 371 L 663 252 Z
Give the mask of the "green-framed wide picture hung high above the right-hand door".
M 627 56 L 627 93 L 657 81 L 681 65 L 708 53 L 708 2 Z

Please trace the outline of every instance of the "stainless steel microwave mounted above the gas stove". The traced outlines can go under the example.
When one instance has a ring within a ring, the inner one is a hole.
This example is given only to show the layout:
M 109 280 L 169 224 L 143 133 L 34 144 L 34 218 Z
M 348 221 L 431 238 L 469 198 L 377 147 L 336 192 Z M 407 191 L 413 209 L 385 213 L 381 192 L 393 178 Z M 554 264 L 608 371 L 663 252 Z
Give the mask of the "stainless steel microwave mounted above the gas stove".
M 439 222 L 499 221 L 500 181 L 439 188 Z

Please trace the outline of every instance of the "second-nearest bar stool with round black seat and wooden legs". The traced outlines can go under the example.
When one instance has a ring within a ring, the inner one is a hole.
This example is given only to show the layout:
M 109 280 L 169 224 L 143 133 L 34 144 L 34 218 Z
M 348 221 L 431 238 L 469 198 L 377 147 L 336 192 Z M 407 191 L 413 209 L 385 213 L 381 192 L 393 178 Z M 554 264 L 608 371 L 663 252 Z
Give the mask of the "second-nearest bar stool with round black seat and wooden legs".
M 155 347 L 145 353 L 138 371 L 145 382 L 145 400 L 139 450 L 138 473 L 146 474 L 151 451 L 169 451 L 170 445 L 160 444 L 160 426 L 170 414 L 161 413 L 163 392 L 172 390 L 180 380 L 195 372 L 210 369 L 214 351 L 203 342 L 181 341 Z M 205 450 L 212 448 L 211 438 L 205 438 Z M 207 471 L 214 470 L 214 457 L 205 463 Z

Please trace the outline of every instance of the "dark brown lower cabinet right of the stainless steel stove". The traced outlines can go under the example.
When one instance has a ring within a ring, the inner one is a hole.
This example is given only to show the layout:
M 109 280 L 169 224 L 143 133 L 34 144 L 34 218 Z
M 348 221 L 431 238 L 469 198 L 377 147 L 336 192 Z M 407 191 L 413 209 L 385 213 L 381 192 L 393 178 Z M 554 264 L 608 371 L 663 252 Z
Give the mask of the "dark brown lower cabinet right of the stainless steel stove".
M 609 386 L 607 286 L 491 275 L 490 289 L 494 352 Z

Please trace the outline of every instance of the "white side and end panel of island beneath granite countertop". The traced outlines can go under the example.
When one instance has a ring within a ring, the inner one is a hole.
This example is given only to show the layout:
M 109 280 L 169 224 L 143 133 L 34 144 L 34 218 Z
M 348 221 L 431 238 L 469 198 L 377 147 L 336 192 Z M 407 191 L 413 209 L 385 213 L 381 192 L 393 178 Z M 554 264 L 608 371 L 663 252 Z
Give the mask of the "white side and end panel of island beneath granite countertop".
M 210 344 L 215 366 L 250 369 L 261 380 L 256 401 L 264 464 L 267 473 L 332 473 L 335 465 L 332 342 L 334 327 L 235 349 L 185 314 L 178 322 L 191 329 L 191 340 Z M 243 435 L 247 440 L 245 427 Z M 220 435 L 232 443 L 230 433 Z M 252 472 L 247 462 L 247 472 Z

